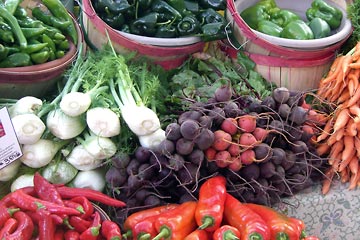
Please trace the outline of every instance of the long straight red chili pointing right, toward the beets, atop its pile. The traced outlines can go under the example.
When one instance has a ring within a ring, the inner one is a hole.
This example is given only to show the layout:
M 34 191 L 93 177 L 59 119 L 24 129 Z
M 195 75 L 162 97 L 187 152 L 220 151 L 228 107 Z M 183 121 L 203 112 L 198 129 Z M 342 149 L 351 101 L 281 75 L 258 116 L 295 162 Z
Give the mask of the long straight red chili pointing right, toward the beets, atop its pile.
M 57 187 L 57 190 L 63 199 L 84 196 L 91 201 L 100 202 L 112 207 L 126 206 L 123 201 L 112 198 L 102 192 L 89 188 L 72 188 L 67 186 L 59 186 Z

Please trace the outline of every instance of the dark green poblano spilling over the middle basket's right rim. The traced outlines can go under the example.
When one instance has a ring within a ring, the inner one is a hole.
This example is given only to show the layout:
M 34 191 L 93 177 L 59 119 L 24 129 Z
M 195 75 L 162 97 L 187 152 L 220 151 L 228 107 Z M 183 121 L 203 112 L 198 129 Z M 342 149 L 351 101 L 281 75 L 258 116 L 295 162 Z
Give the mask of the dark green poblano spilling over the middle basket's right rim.
M 201 31 L 201 40 L 204 42 L 225 39 L 227 34 L 230 34 L 230 30 L 226 29 L 226 23 L 222 22 L 204 24 L 201 26 Z

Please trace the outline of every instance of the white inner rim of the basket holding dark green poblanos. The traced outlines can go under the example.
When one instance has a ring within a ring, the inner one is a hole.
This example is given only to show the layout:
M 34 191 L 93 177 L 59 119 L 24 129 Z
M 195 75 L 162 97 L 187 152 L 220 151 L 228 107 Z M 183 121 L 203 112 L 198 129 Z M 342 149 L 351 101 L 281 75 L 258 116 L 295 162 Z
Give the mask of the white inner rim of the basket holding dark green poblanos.
M 154 38 L 154 37 L 145 37 L 130 33 L 125 33 L 122 31 L 117 31 L 122 36 L 134 40 L 142 44 L 164 46 L 164 47 L 175 47 L 175 46 L 185 46 L 200 42 L 200 37 L 180 37 L 180 38 Z

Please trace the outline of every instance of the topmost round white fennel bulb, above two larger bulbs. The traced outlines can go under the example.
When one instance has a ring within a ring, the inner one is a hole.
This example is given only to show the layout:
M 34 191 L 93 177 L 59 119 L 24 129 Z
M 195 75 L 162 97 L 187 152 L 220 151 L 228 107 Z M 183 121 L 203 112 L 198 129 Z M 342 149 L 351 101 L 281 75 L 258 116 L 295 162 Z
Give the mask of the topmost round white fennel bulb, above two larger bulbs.
M 76 117 L 88 110 L 91 96 L 83 92 L 69 92 L 60 101 L 60 109 L 68 116 Z

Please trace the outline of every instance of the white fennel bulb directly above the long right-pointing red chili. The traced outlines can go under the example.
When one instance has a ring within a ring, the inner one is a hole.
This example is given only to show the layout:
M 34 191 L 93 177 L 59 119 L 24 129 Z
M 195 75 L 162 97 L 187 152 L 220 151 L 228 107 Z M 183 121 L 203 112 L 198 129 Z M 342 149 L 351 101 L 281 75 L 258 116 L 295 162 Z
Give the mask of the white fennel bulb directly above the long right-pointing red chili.
M 72 181 L 74 187 L 89 188 L 102 192 L 105 188 L 105 174 L 97 168 L 89 171 L 80 171 Z

